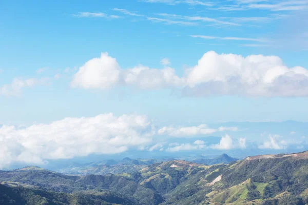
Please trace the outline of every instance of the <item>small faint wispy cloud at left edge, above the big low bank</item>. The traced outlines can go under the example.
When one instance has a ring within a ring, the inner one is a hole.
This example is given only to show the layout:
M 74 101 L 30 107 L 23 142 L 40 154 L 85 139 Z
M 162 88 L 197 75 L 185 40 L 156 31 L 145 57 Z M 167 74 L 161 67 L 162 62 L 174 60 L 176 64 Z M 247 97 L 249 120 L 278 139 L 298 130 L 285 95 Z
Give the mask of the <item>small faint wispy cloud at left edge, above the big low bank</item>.
M 49 78 L 13 78 L 11 84 L 6 84 L 0 87 L 0 95 L 5 96 L 20 96 L 24 88 L 31 88 L 37 85 L 47 85 L 50 83 Z

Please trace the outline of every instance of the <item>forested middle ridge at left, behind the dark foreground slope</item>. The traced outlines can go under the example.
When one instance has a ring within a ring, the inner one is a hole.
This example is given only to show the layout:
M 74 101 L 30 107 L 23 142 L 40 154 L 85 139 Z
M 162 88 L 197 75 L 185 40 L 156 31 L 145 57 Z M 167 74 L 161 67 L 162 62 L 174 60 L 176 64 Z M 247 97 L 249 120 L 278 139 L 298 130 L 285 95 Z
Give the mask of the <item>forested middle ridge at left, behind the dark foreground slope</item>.
M 121 194 L 134 204 L 150 205 L 163 201 L 163 198 L 155 191 L 113 174 L 76 176 L 25 168 L 0 173 L 0 181 L 22 183 L 32 188 L 58 193 L 104 189 Z

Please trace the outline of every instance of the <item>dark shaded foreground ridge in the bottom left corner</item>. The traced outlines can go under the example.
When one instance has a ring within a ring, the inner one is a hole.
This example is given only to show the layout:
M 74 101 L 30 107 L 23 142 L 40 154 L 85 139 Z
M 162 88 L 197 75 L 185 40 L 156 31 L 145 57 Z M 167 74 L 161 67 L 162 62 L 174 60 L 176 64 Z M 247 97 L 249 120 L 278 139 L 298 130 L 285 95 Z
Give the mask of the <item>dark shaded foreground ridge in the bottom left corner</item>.
M 20 183 L 0 184 L 0 204 L 135 204 L 107 190 L 80 191 L 72 194 L 35 189 Z

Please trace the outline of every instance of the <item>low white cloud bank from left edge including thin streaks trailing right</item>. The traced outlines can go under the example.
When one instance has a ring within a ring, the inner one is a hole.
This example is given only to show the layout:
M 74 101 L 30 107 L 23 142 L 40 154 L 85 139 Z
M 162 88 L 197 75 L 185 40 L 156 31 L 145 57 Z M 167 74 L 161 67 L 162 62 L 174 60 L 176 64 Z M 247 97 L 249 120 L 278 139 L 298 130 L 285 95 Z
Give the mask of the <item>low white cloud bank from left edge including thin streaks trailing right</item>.
M 230 136 L 222 137 L 218 145 L 206 146 L 203 140 L 194 144 L 167 144 L 170 137 L 206 135 L 221 130 L 206 125 L 192 127 L 163 127 L 157 129 L 145 115 L 121 115 L 112 113 L 94 117 L 71 118 L 50 124 L 34 124 L 29 127 L 0 126 L 0 169 L 14 163 L 40 165 L 49 160 L 71 159 L 91 154 L 116 154 L 127 150 L 184 151 L 200 149 L 243 148 Z M 159 135 L 160 138 L 157 138 Z M 164 141 L 160 141 L 163 139 Z

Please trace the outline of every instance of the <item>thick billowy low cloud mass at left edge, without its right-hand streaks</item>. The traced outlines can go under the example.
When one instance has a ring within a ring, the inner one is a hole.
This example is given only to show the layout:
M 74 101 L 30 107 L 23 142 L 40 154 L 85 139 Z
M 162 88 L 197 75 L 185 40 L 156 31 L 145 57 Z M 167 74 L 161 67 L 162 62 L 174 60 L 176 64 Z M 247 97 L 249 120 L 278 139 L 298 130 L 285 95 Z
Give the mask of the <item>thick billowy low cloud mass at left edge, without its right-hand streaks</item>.
M 89 154 L 120 153 L 147 145 L 155 132 L 146 116 L 111 113 L 51 124 L 0 128 L 0 169 L 14 162 L 44 163 Z

